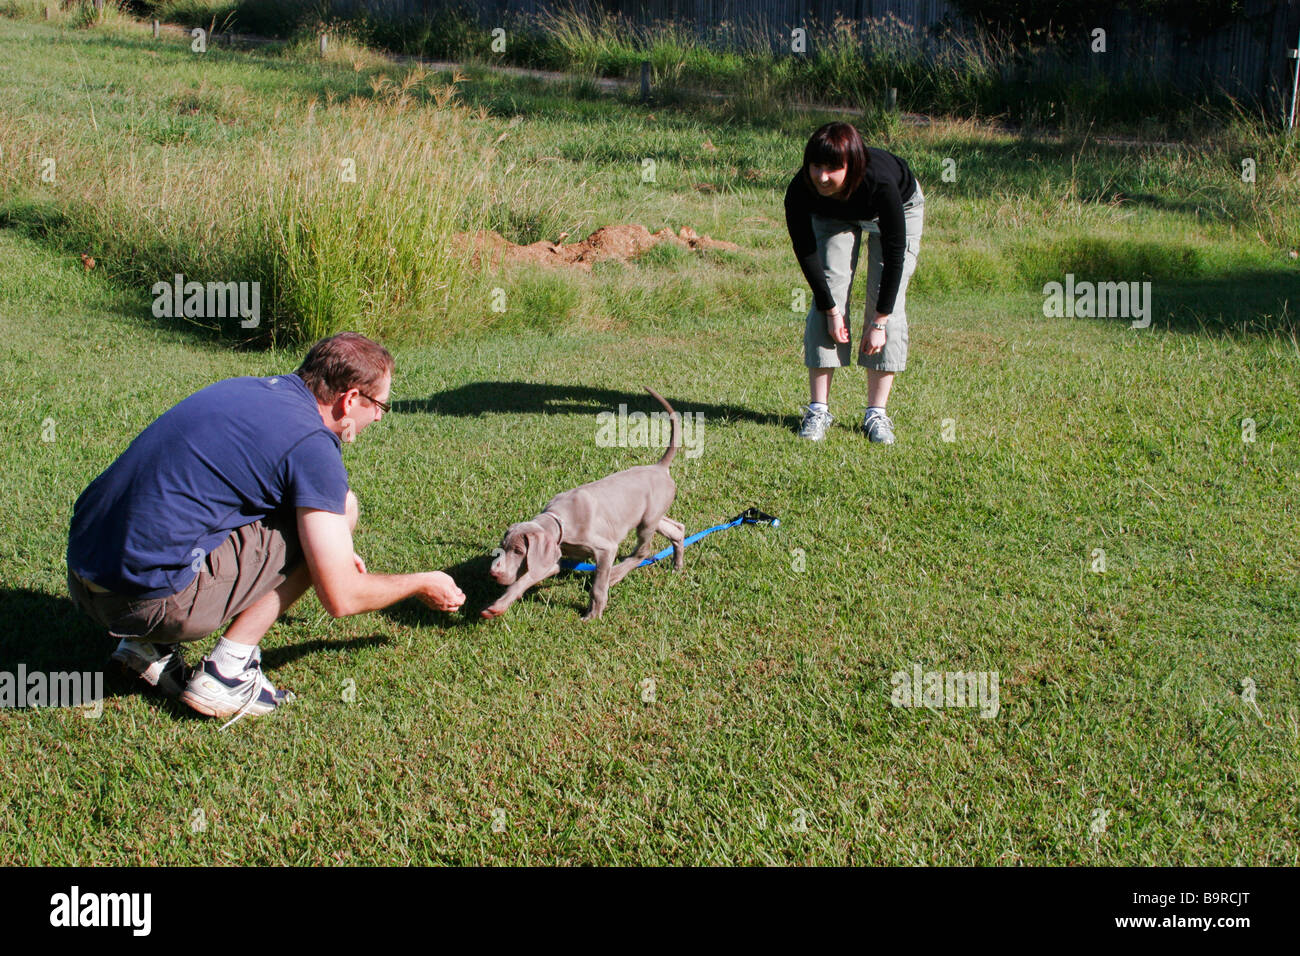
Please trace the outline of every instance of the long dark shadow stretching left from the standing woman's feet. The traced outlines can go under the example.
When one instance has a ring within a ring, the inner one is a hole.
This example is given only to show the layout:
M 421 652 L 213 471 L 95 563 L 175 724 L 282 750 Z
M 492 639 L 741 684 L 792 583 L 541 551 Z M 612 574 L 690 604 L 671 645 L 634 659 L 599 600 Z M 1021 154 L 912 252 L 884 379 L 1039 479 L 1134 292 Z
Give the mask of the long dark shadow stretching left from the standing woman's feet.
M 664 398 L 677 412 L 703 415 L 706 424 L 753 421 L 759 425 L 783 425 L 790 431 L 797 429 L 800 424 L 800 419 L 794 415 L 764 414 L 738 405 L 699 405 L 673 401 L 672 395 L 664 395 Z M 407 414 L 477 416 L 484 412 L 590 415 L 599 411 L 618 412 L 620 405 L 625 405 L 628 412 L 663 412 L 659 403 L 645 392 L 523 381 L 468 382 L 447 392 L 434 393 L 428 398 L 400 399 L 393 407 Z

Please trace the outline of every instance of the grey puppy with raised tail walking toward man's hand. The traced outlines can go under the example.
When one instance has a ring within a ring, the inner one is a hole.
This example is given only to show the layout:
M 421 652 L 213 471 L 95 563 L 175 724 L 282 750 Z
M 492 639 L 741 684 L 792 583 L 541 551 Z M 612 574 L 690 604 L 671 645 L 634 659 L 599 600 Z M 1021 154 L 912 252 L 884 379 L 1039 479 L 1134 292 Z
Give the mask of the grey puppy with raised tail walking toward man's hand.
M 610 587 L 650 557 L 656 531 L 672 542 L 672 566 L 681 570 L 681 542 L 686 528 L 667 516 L 677 497 L 677 485 L 668 473 L 668 466 L 681 446 L 681 419 L 658 392 L 651 388 L 646 392 L 658 399 L 672 420 L 672 438 L 663 458 L 654 464 L 641 464 L 560 492 L 533 520 L 510 525 L 491 564 L 493 579 L 508 587 L 504 594 L 484 609 L 482 617 L 504 614 L 520 594 L 556 574 L 560 555 L 564 555 L 590 557 L 595 563 L 592 606 L 582 620 L 599 618 L 608 604 Z M 637 548 L 615 564 L 619 545 L 633 528 L 637 529 Z

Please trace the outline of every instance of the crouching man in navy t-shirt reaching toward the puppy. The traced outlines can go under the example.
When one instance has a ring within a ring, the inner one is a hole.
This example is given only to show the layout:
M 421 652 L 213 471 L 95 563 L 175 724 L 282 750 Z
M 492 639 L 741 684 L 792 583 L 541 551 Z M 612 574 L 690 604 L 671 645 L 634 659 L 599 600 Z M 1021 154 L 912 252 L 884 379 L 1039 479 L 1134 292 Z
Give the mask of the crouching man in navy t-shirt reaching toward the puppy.
M 333 617 L 407 597 L 454 611 L 441 571 L 367 574 L 342 442 L 389 411 L 393 356 L 344 332 L 292 375 L 226 378 L 164 412 L 77 499 L 73 602 L 118 639 L 113 659 L 209 717 L 292 700 L 257 644 L 308 587 Z M 181 644 L 230 622 L 191 671 Z

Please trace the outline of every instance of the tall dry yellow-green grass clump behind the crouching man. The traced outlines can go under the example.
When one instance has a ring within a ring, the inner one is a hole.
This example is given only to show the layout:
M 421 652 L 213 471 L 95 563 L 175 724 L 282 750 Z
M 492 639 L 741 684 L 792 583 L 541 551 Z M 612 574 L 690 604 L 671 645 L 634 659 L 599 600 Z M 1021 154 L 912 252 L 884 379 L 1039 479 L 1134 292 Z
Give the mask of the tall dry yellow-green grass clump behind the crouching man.
M 202 156 L 0 124 L 0 150 L 16 160 L 0 166 L 0 220 L 70 254 L 94 250 L 146 289 L 176 273 L 260 282 L 257 328 L 200 323 L 237 338 L 311 341 L 339 328 L 438 338 L 455 321 L 450 303 L 477 281 L 451 237 L 482 217 L 491 153 L 454 86 L 421 70 L 370 85 L 368 98 L 309 103 L 256 146 Z M 199 109 L 221 94 L 195 99 Z M 46 159 L 52 182 L 31 176 Z

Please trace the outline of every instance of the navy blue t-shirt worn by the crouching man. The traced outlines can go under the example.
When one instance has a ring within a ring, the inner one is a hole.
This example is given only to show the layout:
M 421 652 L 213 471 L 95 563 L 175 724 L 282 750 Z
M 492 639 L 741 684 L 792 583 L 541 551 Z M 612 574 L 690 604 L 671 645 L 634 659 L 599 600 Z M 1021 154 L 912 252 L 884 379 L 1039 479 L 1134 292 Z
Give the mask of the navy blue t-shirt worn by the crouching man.
M 346 499 L 342 445 L 303 380 L 226 378 L 164 412 L 82 492 L 68 567 L 118 594 L 176 594 L 235 528 L 281 509 L 343 514 Z

